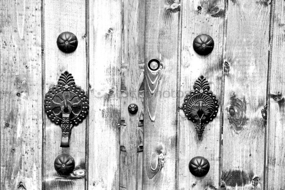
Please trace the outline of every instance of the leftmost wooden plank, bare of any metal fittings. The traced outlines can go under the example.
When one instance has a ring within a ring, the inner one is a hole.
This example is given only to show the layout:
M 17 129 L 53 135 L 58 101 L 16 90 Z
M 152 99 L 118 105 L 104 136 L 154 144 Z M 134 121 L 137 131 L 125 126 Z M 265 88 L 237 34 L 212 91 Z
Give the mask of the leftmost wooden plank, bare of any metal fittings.
M 40 5 L 37 0 L 0 5 L 0 189 L 41 189 Z

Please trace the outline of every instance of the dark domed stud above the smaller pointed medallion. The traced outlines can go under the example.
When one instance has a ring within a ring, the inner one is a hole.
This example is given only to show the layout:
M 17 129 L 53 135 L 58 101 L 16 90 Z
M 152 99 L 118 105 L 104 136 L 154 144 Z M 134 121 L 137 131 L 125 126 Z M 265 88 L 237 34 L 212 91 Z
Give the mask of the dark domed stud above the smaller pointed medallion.
M 214 40 L 207 34 L 198 35 L 193 41 L 193 48 L 200 55 L 211 53 L 214 48 Z

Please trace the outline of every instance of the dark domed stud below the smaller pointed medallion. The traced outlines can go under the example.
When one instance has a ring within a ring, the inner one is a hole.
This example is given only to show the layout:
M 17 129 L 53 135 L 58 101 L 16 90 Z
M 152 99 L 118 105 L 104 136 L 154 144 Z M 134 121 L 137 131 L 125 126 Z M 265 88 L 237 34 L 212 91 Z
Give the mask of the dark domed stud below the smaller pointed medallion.
M 209 169 L 210 169 L 209 161 L 202 156 L 196 156 L 192 158 L 192 160 L 190 160 L 189 162 L 190 172 L 197 177 L 202 177 L 206 175 Z

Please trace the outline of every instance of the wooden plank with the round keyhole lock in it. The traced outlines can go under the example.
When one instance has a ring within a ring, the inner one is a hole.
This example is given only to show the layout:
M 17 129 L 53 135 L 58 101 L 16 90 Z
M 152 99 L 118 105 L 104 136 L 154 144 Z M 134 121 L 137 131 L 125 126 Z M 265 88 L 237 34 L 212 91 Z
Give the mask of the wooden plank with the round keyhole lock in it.
M 179 11 L 179 1 L 146 1 L 144 189 L 175 188 Z M 152 59 L 161 63 L 156 71 Z

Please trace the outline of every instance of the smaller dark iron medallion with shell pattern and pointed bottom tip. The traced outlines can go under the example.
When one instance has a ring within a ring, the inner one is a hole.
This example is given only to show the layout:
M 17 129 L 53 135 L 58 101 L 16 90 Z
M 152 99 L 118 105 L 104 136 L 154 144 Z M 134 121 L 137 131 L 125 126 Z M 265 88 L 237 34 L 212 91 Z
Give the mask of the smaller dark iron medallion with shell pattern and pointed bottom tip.
M 189 120 L 197 124 L 196 132 L 201 140 L 204 123 L 217 116 L 219 105 L 216 96 L 209 91 L 209 83 L 203 75 L 196 80 L 193 88 L 194 91 L 190 91 L 184 98 L 183 111 Z

